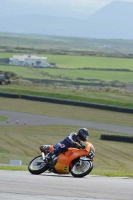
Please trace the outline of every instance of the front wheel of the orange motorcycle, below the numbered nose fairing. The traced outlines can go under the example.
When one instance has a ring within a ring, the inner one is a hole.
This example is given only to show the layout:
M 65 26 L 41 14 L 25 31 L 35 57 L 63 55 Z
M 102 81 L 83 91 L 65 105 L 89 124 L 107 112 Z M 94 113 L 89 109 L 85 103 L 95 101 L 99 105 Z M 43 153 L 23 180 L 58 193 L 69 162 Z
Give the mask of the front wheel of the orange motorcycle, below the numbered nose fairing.
M 82 163 L 79 161 L 75 163 L 71 169 L 71 174 L 74 177 L 83 177 L 88 175 L 93 169 L 93 163 L 91 160 L 83 160 Z

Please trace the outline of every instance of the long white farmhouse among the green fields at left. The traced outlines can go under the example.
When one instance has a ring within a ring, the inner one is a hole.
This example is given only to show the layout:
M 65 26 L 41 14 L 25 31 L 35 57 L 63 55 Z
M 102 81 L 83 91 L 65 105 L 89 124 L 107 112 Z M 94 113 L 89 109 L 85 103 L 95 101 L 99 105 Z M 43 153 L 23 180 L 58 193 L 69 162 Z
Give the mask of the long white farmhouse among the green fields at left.
M 14 55 L 13 58 L 10 58 L 9 65 L 50 67 L 50 64 L 46 60 L 46 57 L 37 57 L 34 55 Z

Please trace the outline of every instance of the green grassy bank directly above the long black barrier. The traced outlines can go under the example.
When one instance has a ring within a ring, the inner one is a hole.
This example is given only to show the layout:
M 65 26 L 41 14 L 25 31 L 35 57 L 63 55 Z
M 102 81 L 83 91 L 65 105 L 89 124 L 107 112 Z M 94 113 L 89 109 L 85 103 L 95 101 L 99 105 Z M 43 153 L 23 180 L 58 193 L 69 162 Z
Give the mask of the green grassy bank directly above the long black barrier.
M 118 90 L 117 88 L 61 87 L 30 84 L 27 81 L 23 81 L 0 86 L 0 91 L 133 108 L 133 93 Z

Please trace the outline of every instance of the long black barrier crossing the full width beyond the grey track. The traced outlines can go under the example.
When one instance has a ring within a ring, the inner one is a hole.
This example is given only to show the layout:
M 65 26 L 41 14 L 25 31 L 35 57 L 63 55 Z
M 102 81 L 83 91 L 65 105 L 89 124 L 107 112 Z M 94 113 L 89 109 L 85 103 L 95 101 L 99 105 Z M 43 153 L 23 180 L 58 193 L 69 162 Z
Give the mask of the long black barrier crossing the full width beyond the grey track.
M 65 100 L 65 99 L 58 99 L 58 98 L 49 98 L 49 97 L 41 97 L 41 96 L 32 96 L 32 95 L 19 95 L 19 94 L 11 94 L 0 92 L 1 97 L 9 97 L 9 98 L 21 98 L 26 100 L 32 101 L 42 101 L 42 102 L 49 102 L 49 103 L 58 103 L 58 104 L 65 104 L 65 105 L 74 105 L 74 106 L 82 106 L 88 108 L 97 108 L 102 110 L 111 110 L 123 113 L 133 113 L 133 108 L 124 108 L 118 106 L 109 106 L 109 105 L 102 105 L 102 104 L 95 104 L 95 103 L 87 103 L 87 102 L 80 102 L 80 101 L 72 101 L 72 100 Z

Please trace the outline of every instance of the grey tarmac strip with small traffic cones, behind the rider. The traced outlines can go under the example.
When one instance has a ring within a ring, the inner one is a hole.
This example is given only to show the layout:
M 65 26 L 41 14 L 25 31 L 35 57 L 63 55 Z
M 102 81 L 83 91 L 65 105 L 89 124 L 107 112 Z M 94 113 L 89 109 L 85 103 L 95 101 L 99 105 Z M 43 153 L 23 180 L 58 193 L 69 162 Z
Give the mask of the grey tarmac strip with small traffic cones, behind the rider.
M 43 116 L 36 114 L 12 112 L 0 110 L 0 116 L 8 118 L 7 121 L 0 121 L 0 126 L 38 126 L 38 125 L 70 125 L 92 128 L 96 130 L 110 131 L 116 133 L 132 134 L 133 127 L 120 126 L 113 124 L 97 123 L 84 120 L 67 119 L 52 116 Z

